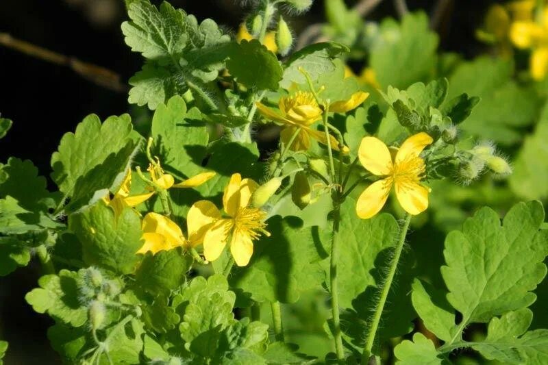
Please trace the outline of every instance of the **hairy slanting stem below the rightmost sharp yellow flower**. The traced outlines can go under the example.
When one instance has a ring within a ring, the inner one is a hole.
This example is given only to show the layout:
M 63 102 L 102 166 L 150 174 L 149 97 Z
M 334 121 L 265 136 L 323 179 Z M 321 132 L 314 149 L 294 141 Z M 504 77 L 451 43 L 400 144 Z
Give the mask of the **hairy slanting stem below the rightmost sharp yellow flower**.
M 373 343 L 375 342 L 375 336 L 377 334 L 377 329 L 379 327 L 379 321 L 384 311 L 384 305 L 386 304 L 386 298 L 388 298 L 388 293 L 390 292 L 390 286 L 394 280 L 396 270 L 399 263 L 399 258 L 401 257 L 401 251 L 403 250 L 403 244 L 406 242 L 407 231 L 409 229 L 409 223 L 411 222 L 411 214 L 406 214 L 406 220 L 403 223 L 403 227 L 399 233 L 399 241 L 396 246 L 396 251 L 392 262 L 390 262 L 390 268 L 388 270 L 388 277 L 384 281 L 382 288 L 381 296 L 375 308 L 375 314 L 373 316 L 373 322 L 369 327 L 369 333 L 367 333 L 367 340 L 365 342 L 364 351 L 362 353 L 362 364 L 367 364 L 369 362 L 369 357 L 371 357 L 371 350 L 373 349 Z

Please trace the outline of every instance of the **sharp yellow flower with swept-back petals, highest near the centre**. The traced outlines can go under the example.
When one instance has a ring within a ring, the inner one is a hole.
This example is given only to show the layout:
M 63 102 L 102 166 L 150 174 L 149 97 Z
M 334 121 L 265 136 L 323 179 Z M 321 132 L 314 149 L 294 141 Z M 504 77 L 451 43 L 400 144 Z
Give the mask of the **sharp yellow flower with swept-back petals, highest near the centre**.
M 336 101 L 329 105 L 329 112 L 344 113 L 352 110 L 369 97 L 367 92 L 356 92 L 349 100 Z M 312 92 L 297 91 L 290 97 L 279 99 L 278 108 L 282 114 L 266 107 L 262 103 L 256 103 L 259 112 L 272 121 L 284 125 L 280 132 L 280 139 L 287 145 L 295 133 L 297 137 L 290 145 L 292 151 L 306 151 L 310 147 L 310 138 L 314 138 L 323 144 L 327 144 L 325 132 L 310 128 L 310 125 L 321 120 L 323 110 L 320 108 Z M 332 149 L 338 151 L 338 141 L 329 136 Z M 348 153 L 347 147 L 343 153 Z

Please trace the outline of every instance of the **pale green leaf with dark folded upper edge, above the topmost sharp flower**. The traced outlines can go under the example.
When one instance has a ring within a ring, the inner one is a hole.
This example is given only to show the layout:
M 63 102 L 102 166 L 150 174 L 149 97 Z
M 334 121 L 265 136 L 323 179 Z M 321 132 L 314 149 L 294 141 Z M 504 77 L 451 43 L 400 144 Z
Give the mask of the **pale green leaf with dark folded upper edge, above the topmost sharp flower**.
M 345 45 L 335 42 L 322 42 L 304 47 L 291 55 L 286 62 L 284 77 L 279 81 L 279 86 L 285 89 L 290 88 L 291 84 L 306 84 L 306 78 L 299 68 L 310 75 L 312 80 L 319 76 L 334 71 L 333 60 L 349 49 Z

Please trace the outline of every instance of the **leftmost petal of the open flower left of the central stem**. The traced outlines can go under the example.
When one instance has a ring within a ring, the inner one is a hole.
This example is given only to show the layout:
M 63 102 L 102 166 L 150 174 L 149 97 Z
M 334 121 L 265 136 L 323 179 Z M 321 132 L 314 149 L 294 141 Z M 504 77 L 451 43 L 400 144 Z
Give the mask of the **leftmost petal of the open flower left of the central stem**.
M 221 218 L 221 212 L 211 201 L 201 200 L 192 204 L 186 215 L 188 242 L 192 247 L 203 242 L 203 236 L 213 223 Z

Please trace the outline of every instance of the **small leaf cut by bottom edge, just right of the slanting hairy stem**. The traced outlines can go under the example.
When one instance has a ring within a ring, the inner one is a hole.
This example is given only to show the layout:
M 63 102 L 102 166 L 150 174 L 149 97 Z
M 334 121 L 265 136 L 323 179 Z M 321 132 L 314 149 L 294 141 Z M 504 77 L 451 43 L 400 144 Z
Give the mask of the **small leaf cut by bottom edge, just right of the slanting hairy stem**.
M 413 341 L 403 340 L 394 349 L 398 365 L 436 365 L 444 364 L 438 357 L 434 342 L 428 340 L 422 333 L 415 333 Z

